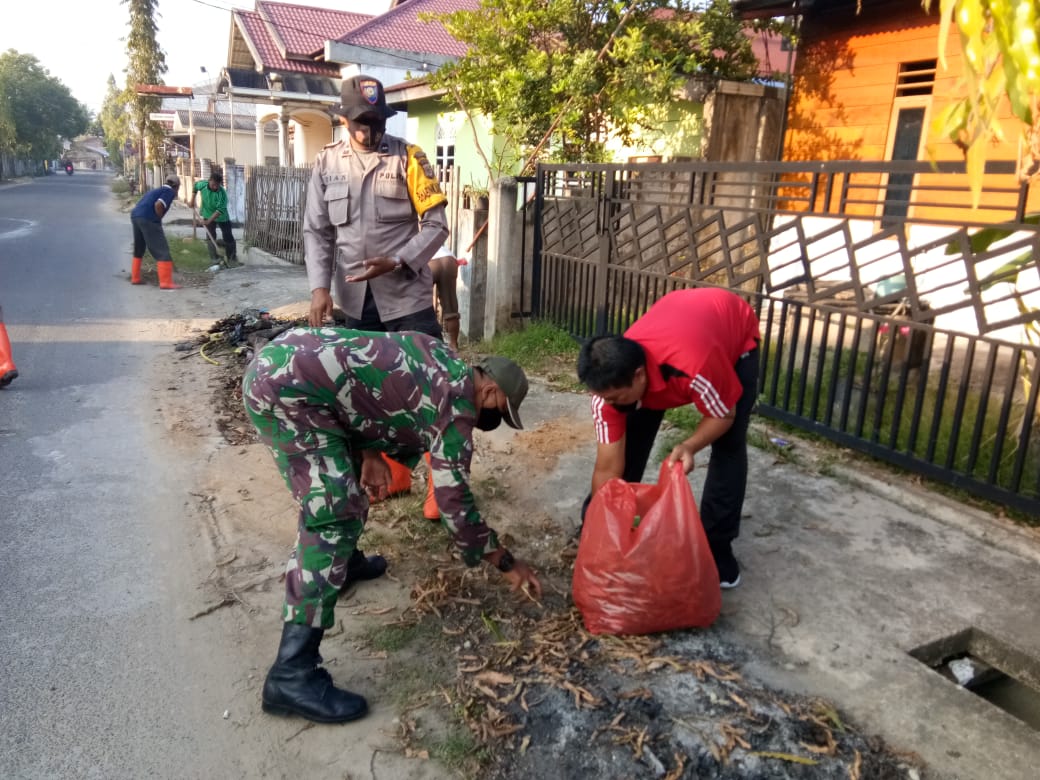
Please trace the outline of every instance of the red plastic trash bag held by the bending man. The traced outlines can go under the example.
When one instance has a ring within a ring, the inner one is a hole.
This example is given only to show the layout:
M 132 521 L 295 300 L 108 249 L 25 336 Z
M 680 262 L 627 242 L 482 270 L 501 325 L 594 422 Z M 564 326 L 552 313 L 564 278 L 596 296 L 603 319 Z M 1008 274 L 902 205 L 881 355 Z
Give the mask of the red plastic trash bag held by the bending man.
M 610 479 L 586 513 L 574 562 L 574 603 L 592 633 L 709 626 L 719 570 L 682 465 L 656 485 Z

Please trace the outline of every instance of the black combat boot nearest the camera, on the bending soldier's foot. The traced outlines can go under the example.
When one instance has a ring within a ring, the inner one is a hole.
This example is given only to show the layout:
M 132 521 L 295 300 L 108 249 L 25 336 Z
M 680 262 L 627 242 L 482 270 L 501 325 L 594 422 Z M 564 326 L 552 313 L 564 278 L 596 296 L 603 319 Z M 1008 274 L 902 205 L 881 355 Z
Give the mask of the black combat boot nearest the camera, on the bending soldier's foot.
M 261 696 L 264 712 L 300 716 L 315 723 L 346 723 L 368 711 L 364 697 L 332 684 L 320 667 L 320 628 L 285 623 L 278 660 L 267 673 Z

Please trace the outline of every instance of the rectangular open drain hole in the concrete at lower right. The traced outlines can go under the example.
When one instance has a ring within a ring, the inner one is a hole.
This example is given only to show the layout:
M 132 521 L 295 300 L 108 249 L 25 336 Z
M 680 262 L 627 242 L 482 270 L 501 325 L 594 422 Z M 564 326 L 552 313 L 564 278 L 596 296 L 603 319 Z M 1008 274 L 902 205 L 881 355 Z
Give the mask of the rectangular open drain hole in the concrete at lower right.
M 921 645 L 910 655 L 1040 731 L 1040 659 L 978 628 Z

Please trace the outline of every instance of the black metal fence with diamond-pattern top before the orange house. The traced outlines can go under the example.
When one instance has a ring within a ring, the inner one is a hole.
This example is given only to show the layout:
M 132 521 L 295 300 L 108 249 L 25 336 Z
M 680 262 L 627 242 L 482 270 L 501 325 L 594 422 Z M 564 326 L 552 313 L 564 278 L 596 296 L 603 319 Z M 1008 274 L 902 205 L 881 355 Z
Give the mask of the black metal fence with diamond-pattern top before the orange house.
M 531 309 L 588 337 L 733 289 L 760 414 L 1040 514 L 1040 203 L 1011 170 L 973 210 L 957 164 L 543 165 Z

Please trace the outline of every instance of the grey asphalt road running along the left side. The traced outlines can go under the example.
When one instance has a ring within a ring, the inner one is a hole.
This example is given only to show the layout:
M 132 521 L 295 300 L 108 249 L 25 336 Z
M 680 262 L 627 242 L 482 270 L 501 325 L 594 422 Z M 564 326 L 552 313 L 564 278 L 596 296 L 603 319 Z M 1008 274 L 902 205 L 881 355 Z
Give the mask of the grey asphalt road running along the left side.
M 205 576 L 184 512 L 198 466 L 164 446 L 148 379 L 178 293 L 127 283 L 129 241 L 107 176 L 0 186 L 21 374 L 0 390 L 6 778 L 237 777 L 264 752 L 226 727 L 242 671 L 218 622 L 187 620 Z

